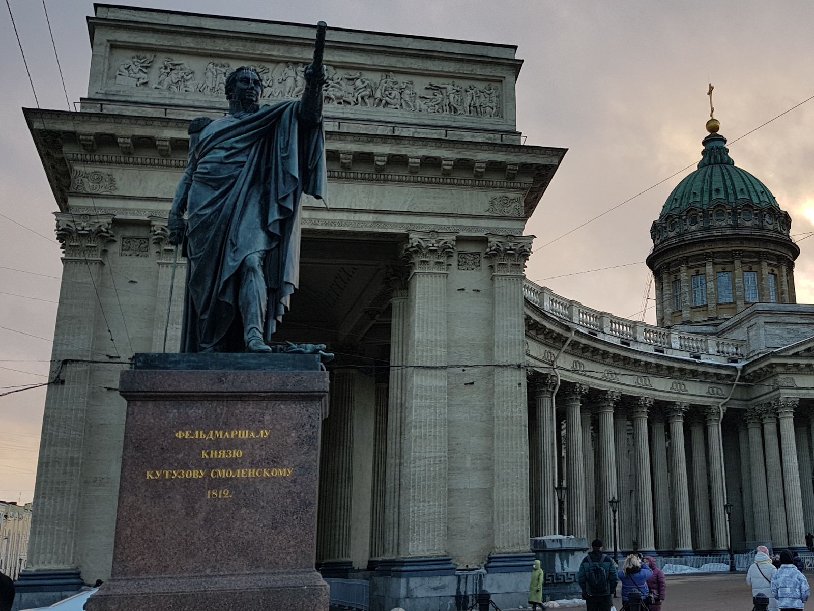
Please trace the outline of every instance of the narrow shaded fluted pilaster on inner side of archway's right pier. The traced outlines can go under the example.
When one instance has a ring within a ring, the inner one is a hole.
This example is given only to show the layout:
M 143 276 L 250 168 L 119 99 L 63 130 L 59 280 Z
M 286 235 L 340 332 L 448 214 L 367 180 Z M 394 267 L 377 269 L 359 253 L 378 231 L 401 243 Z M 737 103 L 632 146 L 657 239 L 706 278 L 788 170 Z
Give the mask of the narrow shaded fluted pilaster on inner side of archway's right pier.
M 392 290 L 390 300 L 390 378 L 387 385 L 387 477 L 384 481 L 384 558 L 395 558 L 399 553 L 399 525 L 401 509 L 401 460 L 403 447 L 402 421 L 406 393 L 406 319 L 407 270 L 395 267 L 387 276 Z M 383 569 L 379 563 L 380 569 Z

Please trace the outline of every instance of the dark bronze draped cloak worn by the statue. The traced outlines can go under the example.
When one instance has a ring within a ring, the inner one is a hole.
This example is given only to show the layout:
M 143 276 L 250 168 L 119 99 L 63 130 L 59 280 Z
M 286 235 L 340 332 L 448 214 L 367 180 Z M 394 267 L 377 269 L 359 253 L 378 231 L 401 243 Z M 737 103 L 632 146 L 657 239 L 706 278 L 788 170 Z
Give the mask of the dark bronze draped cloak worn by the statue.
M 322 123 L 300 125 L 300 101 L 209 123 L 190 138 L 182 352 L 242 352 L 240 266 L 263 253 L 269 341 L 300 270 L 300 196 L 326 195 Z M 179 187 L 180 189 L 181 187 Z

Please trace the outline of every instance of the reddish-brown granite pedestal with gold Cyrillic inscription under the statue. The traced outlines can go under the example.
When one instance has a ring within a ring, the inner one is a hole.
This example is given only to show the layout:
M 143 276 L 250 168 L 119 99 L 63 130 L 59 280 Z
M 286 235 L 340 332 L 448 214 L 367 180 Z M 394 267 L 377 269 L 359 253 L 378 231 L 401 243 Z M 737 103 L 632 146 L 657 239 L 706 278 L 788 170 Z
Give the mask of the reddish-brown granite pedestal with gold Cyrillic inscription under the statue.
M 327 611 L 314 569 L 319 357 L 137 355 L 119 389 L 112 577 L 85 609 Z

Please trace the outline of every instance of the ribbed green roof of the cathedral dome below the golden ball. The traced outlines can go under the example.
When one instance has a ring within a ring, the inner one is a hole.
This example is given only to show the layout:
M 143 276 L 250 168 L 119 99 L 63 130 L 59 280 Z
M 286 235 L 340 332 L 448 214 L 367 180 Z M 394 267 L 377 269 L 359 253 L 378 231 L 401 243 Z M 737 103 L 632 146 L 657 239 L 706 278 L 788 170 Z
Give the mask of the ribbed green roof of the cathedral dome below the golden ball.
M 724 136 L 709 134 L 702 144 L 704 150 L 698 169 L 672 190 L 659 218 L 681 214 L 689 208 L 710 209 L 714 204 L 736 206 L 751 202 L 758 208 L 780 209 L 772 191 L 763 182 L 745 169 L 735 167 Z

